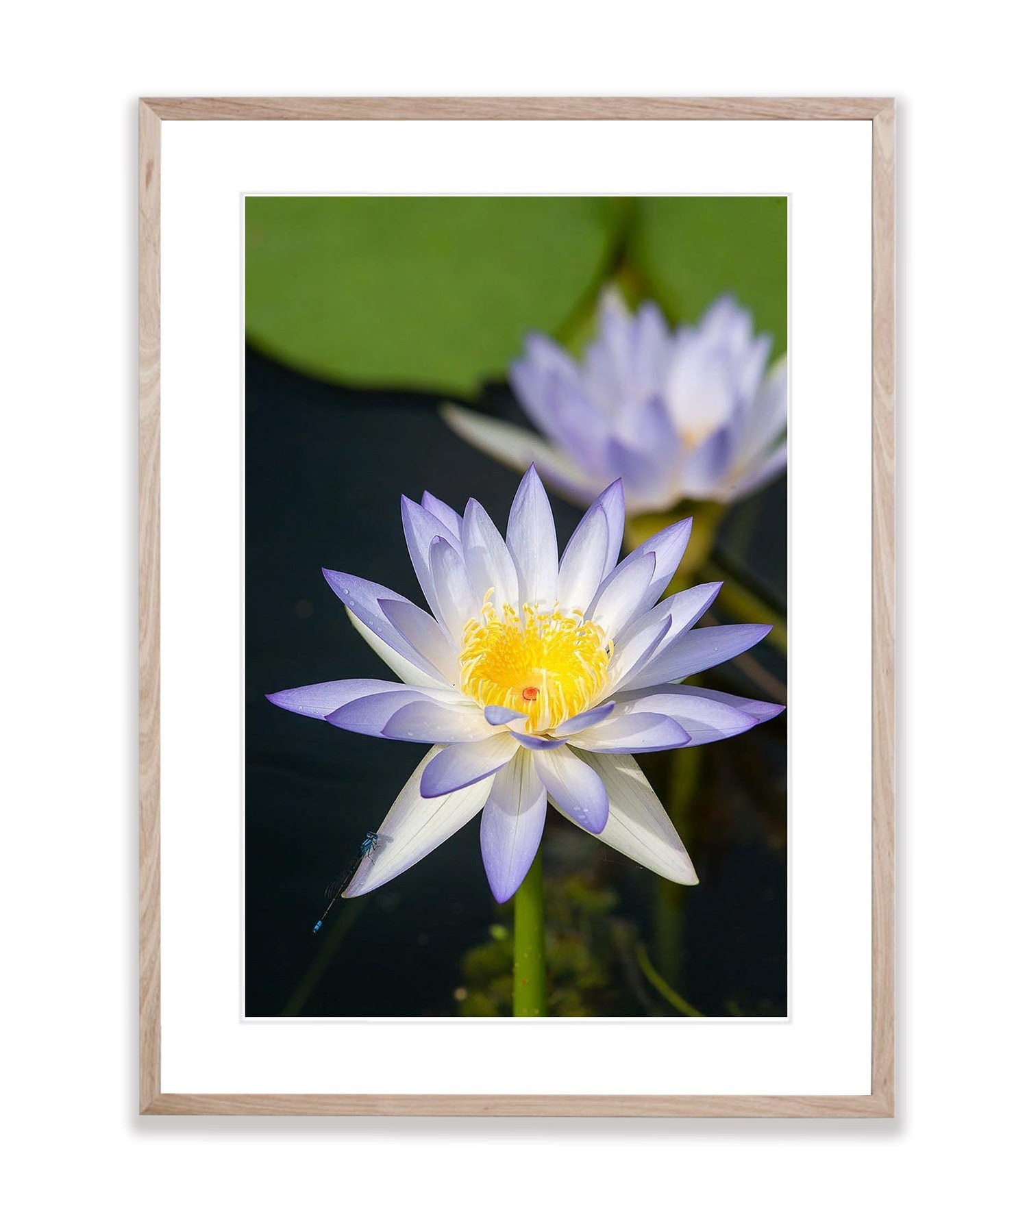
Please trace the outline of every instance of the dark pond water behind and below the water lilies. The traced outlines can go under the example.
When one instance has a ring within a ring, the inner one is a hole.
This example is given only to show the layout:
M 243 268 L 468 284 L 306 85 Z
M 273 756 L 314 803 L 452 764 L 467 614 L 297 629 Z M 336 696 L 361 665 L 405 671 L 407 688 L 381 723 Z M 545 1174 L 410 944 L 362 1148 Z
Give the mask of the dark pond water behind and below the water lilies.
M 517 416 L 502 388 L 483 402 Z M 401 493 L 429 487 L 457 508 L 473 494 L 505 521 L 518 477 L 457 440 L 436 407 L 430 394 L 340 389 L 247 357 L 248 1015 L 509 1013 L 510 915 L 488 892 L 476 823 L 381 890 L 337 904 L 311 935 L 324 886 L 377 828 L 423 747 L 340 732 L 264 697 L 318 680 L 388 678 L 321 569 L 417 600 Z M 579 511 L 559 500 L 554 510 L 562 545 Z M 780 600 L 784 480 L 732 513 L 720 551 Z M 784 680 L 775 652 L 761 646 L 755 658 Z M 704 683 L 769 696 L 734 665 Z M 640 759 L 668 807 L 697 781 L 687 807 L 672 808 L 697 887 L 661 890 L 550 814 L 554 1013 L 677 1015 L 665 979 L 705 1014 L 787 1013 L 785 739 L 782 716 L 702 758 L 685 749 Z

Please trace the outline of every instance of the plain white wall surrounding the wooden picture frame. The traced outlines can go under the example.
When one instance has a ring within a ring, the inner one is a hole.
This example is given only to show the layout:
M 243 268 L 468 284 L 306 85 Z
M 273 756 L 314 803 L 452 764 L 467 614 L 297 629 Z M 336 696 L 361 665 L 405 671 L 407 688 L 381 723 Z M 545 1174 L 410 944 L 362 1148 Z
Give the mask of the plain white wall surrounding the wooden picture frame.
M 179 0 L 9 15 L 0 910 L 12 1226 L 1013 1218 L 1027 322 L 1011 21 L 991 0 L 951 17 L 915 0 L 374 14 Z M 899 96 L 894 1124 L 136 1116 L 134 100 L 387 92 Z

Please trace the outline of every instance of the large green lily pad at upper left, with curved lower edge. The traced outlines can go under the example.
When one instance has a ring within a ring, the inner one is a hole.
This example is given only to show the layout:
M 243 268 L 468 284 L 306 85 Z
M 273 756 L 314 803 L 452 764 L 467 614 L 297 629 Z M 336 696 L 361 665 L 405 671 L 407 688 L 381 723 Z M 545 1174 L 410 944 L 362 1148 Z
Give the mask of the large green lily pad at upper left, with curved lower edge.
M 625 203 L 249 197 L 247 334 L 312 376 L 473 393 L 594 294 Z

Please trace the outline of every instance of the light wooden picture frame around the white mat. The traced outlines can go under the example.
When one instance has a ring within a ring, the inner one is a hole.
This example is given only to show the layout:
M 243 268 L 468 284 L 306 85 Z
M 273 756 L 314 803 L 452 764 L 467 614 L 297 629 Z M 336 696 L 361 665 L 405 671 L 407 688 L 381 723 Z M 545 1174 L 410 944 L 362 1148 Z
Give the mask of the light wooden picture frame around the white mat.
M 873 853 L 868 1095 L 186 1094 L 160 1079 L 160 128 L 175 121 L 799 120 L 873 126 Z M 139 1109 L 189 1115 L 894 1115 L 895 105 L 891 99 L 144 99 L 139 103 Z

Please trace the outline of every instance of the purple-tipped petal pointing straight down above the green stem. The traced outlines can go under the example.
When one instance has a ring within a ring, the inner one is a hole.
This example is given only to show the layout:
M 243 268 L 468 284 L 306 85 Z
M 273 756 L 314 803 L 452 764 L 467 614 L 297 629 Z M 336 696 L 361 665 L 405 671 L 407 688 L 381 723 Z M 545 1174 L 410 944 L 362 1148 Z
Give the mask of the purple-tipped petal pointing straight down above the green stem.
M 481 818 L 481 854 L 497 902 L 505 903 L 524 881 L 545 821 L 545 788 L 522 750 L 496 775 Z

